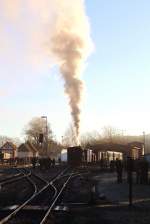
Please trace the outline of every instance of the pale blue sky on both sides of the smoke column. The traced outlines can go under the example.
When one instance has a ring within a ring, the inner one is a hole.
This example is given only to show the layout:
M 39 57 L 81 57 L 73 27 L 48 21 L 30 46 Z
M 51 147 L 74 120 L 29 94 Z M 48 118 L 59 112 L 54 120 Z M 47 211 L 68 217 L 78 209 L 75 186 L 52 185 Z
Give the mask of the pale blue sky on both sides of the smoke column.
M 150 1 L 86 0 L 86 9 L 95 50 L 83 74 L 81 131 L 150 132 Z M 71 118 L 59 71 L 25 63 L 15 29 L 5 24 L 17 48 L 0 56 L 0 135 L 19 137 L 32 117 L 47 115 L 60 139 Z

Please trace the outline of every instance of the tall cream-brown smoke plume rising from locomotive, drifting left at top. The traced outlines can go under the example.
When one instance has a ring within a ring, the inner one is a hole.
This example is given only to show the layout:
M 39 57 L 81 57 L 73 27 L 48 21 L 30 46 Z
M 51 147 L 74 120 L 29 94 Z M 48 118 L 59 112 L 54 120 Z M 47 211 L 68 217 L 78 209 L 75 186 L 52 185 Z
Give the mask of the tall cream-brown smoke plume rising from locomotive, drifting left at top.
M 35 42 L 36 46 L 43 44 L 45 53 L 59 65 L 78 136 L 83 92 L 81 70 L 91 49 L 84 1 L 1 0 L 0 8 L 7 20 L 19 24 L 28 21 L 32 34 L 28 41 L 34 46 Z

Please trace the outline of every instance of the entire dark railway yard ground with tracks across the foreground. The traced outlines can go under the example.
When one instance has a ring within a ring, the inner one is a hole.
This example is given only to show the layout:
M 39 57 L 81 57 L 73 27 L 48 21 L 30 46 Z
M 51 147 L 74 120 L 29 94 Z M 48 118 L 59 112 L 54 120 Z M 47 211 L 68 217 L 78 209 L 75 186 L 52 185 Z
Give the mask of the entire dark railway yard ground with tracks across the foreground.
M 3 168 L 0 223 L 149 223 L 149 186 L 134 186 L 131 207 L 123 182 L 97 166 Z

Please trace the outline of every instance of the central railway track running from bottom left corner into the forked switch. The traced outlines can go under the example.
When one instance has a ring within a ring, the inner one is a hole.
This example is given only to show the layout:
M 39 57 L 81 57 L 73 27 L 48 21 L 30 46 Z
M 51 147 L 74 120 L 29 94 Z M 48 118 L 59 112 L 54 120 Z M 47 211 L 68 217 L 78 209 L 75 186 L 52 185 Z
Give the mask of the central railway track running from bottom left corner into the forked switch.
M 25 175 L 34 189 L 33 194 L 24 203 L 19 205 L 13 212 L 4 217 L 0 221 L 0 224 L 41 223 L 41 220 L 43 217 L 45 217 L 45 213 L 47 214 L 47 211 L 49 210 L 48 208 L 51 207 L 53 200 L 56 198 L 56 195 L 58 195 L 58 190 L 53 183 L 57 181 L 62 175 L 64 175 L 65 172 L 66 169 L 57 174 L 51 181 L 47 182 L 35 174 L 29 174 L 26 170 L 22 170 L 22 173 Z M 45 182 L 44 185 L 37 187 L 35 179 L 36 181 L 38 179 L 40 182 Z M 23 222 L 23 220 L 25 220 L 25 222 Z

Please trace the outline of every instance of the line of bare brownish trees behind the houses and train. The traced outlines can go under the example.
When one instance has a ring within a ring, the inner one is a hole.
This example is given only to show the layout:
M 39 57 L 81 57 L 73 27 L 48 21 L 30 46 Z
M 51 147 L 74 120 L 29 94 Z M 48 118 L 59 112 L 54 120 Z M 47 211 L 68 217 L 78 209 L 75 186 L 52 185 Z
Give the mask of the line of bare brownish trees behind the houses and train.
M 114 128 L 112 126 L 104 126 L 101 132 L 92 131 L 84 133 L 83 135 L 81 135 L 78 142 L 74 126 L 73 124 L 70 124 L 70 126 L 62 136 L 62 143 L 60 144 L 54 139 L 54 134 L 49 123 L 47 124 L 47 130 L 48 139 L 44 138 L 44 143 L 40 144 L 39 134 L 43 133 L 44 137 L 46 137 L 46 122 L 45 119 L 42 119 L 41 117 L 34 117 L 26 125 L 24 133 L 26 136 L 26 140 L 32 142 L 37 147 L 39 152 L 41 152 L 41 154 L 42 152 L 44 152 L 44 147 L 46 148 L 46 145 L 44 144 L 46 144 L 47 140 L 47 153 L 52 157 L 60 153 L 63 147 L 67 148 L 69 146 L 75 146 L 78 144 L 80 144 L 84 148 L 88 144 L 127 144 L 132 141 L 142 141 L 143 139 L 143 136 L 126 136 L 120 129 Z

